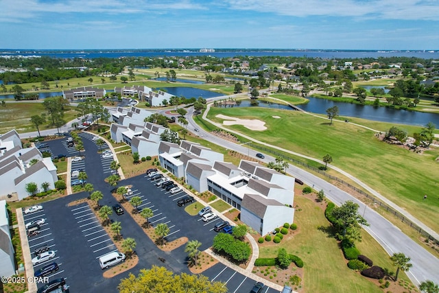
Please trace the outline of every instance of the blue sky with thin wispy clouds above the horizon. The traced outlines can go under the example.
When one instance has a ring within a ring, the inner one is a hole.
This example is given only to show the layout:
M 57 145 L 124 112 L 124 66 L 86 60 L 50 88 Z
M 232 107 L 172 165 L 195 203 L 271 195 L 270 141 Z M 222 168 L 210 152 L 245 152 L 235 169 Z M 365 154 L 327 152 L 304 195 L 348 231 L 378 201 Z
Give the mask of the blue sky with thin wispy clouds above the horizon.
M 439 49 L 438 0 L 0 0 L 0 49 Z

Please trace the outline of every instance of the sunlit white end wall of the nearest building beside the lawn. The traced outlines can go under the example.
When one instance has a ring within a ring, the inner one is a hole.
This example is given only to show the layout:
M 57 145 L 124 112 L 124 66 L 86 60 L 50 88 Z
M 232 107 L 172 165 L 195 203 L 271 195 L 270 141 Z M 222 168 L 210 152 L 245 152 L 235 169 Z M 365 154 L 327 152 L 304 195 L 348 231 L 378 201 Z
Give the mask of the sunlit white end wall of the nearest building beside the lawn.
M 241 215 L 242 220 L 242 215 Z M 244 220 L 242 220 L 244 222 Z M 261 235 L 266 235 L 284 223 L 294 222 L 294 209 L 285 206 L 268 206 L 263 217 Z

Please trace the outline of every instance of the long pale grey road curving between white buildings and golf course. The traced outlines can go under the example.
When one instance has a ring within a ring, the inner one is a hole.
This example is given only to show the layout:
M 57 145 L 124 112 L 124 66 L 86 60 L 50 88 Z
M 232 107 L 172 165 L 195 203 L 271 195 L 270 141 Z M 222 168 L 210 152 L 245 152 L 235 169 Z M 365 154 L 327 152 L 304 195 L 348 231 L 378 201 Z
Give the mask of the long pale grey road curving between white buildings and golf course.
M 193 108 L 188 109 L 187 120 L 189 125 L 187 127 L 191 132 L 198 134 L 203 139 L 211 141 L 217 145 L 221 145 L 223 148 L 228 150 L 235 150 L 241 152 L 242 154 L 249 154 L 250 156 L 255 156 L 256 151 L 246 147 L 246 145 L 237 145 L 230 141 L 225 141 L 219 137 L 215 137 L 209 132 L 205 132 L 200 128 L 195 121 L 192 119 Z M 195 132 L 194 129 L 199 128 L 199 132 Z M 274 161 L 275 158 L 265 154 L 265 159 L 263 161 L 268 163 Z M 353 200 L 359 204 L 359 211 L 364 213 L 364 218 L 370 224 L 365 230 L 374 237 L 381 246 L 387 251 L 389 255 L 393 253 L 404 253 L 406 256 L 411 257 L 413 264 L 409 272 L 407 272 L 408 277 L 415 283 L 419 284 L 425 280 L 434 281 L 434 283 L 439 283 L 439 259 L 434 255 L 431 255 L 425 248 L 414 242 L 410 237 L 407 237 L 399 228 L 394 226 L 388 220 L 383 218 L 379 213 L 367 207 L 363 202 L 360 202 L 350 194 L 345 191 L 331 185 L 327 181 L 315 176 L 304 169 L 290 165 L 287 169 L 288 174 L 296 178 L 300 178 L 305 184 L 309 186 L 314 186 L 316 190 L 323 189 L 324 194 L 333 201 L 335 204 L 342 204 L 346 200 Z

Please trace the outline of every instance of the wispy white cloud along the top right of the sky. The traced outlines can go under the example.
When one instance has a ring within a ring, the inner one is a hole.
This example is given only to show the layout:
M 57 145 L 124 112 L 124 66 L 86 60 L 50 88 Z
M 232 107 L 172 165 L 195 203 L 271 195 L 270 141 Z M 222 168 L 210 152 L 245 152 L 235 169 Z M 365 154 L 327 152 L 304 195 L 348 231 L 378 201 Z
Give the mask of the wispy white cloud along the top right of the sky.
M 375 19 L 438 21 L 433 0 L 225 0 L 233 10 L 271 12 L 285 16 L 374 16 Z

